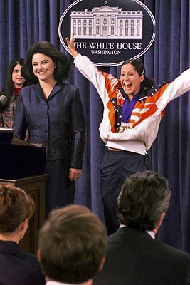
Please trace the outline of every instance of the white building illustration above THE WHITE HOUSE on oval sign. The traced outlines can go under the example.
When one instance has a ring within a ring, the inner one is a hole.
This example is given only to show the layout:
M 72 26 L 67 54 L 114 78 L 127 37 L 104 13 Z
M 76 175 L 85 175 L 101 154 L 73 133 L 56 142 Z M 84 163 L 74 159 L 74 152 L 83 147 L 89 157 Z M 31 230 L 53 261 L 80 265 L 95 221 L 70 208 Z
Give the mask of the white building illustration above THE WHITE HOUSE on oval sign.
M 71 11 L 70 31 L 75 38 L 142 39 L 143 11 L 122 11 L 119 7 L 94 7 L 92 11 Z

